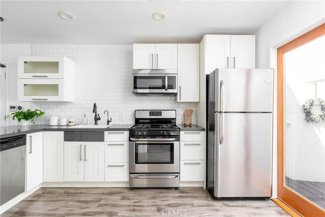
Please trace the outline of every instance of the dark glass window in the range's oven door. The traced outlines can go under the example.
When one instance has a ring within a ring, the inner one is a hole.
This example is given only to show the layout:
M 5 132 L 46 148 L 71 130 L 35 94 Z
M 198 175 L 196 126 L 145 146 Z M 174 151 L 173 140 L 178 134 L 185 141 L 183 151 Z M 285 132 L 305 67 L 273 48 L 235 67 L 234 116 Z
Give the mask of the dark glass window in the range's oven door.
M 135 164 L 174 164 L 174 143 L 135 143 Z

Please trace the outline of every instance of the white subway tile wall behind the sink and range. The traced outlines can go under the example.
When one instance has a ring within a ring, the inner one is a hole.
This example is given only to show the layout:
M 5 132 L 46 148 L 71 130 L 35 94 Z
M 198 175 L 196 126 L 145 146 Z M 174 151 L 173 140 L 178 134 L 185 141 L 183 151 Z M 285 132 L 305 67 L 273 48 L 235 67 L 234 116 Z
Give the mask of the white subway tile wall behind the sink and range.
M 135 109 L 176 109 L 177 123 L 183 123 L 183 110 L 195 111 L 195 103 L 176 103 L 175 97 L 137 97 L 132 94 L 132 45 L 60 45 L 32 44 L 29 52 L 22 54 L 20 45 L 7 45 L 3 54 L 10 58 L 13 76 L 10 78 L 11 102 L 17 99 L 17 56 L 67 56 L 75 61 L 75 102 L 33 102 L 25 108 L 41 109 L 46 115 L 38 118 L 38 123 L 48 124 L 49 115 L 74 118 L 81 123 L 83 115 L 93 124 L 93 103 L 106 124 L 107 114 L 115 124 L 133 124 Z M 31 47 L 31 51 L 30 51 Z M 9 49 L 10 48 L 10 49 Z M 24 47 L 23 47 L 24 48 Z M 22 104 L 22 103 L 19 103 Z M 193 113 L 192 122 L 196 120 Z M 17 122 L 11 123 L 16 125 Z

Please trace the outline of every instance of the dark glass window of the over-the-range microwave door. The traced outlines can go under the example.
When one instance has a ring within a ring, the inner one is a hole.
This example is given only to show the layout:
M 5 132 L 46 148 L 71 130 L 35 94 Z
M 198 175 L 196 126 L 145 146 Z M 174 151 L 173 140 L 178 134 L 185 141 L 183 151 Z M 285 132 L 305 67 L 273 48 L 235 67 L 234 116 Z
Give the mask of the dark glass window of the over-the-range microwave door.
M 134 89 L 165 89 L 165 76 L 134 76 Z

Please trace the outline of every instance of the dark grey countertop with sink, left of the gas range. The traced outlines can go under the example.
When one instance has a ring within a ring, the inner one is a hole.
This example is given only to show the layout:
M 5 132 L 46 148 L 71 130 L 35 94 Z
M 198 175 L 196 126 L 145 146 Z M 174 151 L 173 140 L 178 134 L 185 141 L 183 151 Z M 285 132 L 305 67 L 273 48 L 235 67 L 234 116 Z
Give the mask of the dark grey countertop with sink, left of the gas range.
M 17 136 L 40 131 L 128 131 L 133 125 L 113 125 L 109 128 L 69 128 L 68 126 L 28 125 L 0 127 L 0 137 Z

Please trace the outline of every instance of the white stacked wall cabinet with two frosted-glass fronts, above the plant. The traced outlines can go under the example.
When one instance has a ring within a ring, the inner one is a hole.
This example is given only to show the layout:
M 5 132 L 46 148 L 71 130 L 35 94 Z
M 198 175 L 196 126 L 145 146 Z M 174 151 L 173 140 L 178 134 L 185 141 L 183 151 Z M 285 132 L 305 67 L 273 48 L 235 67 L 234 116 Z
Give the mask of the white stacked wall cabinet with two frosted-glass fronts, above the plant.
M 18 101 L 74 101 L 74 61 L 60 56 L 18 57 Z

